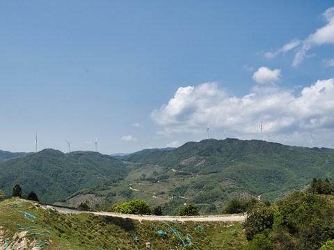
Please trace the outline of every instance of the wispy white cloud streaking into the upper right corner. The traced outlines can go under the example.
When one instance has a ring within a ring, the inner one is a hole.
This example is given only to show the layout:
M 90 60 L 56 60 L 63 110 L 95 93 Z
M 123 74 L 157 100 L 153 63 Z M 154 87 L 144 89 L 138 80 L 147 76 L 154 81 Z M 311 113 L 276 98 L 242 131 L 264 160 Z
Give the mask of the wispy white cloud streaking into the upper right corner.
M 305 58 L 309 57 L 307 51 L 312 49 L 315 45 L 334 44 L 334 7 L 328 8 L 328 10 L 323 13 L 323 16 L 326 20 L 325 26 L 317 28 L 315 33 L 308 35 L 308 38 L 304 40 L 292 40 L 292 42 L 284 44 L 283 47 L 277 51 L 264 53 L 264 58 L 271 59 L 279 53 L 285 53 L 295 49 L 296 54 L 292 66 L 296 67 Z

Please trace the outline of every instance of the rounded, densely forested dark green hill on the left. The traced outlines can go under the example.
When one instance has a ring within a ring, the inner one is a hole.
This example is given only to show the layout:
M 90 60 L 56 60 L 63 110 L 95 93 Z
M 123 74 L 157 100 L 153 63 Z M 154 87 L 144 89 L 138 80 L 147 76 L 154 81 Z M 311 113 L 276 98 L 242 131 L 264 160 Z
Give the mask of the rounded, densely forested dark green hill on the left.
M 53 203 L 83 188 L 127 175 L 125 165 L 112 156 L 91 151 L 62 153 L 45 149 L 0 163 L 0 189 L 11 195 L 16 183 L 24 193 L 34 191 Z

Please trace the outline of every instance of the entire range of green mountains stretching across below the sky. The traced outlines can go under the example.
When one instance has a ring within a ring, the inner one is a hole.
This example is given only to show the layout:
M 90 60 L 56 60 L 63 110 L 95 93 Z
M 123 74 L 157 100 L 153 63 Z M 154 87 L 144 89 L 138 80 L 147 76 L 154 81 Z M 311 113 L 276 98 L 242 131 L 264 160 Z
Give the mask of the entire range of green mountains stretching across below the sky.
M 41 201 L 108 209 L 143 199 L 173 215 L 184 203 L 200 213 L 220 213 L 233 197 L 276 201 L 303 190 L 312 178 L 334 178 L 334 150 L 292 147 L 260 140 L 202 140 L 177 149 L 126 156 L 45 149 L 0 163 L 0 189 L 16 183 Z

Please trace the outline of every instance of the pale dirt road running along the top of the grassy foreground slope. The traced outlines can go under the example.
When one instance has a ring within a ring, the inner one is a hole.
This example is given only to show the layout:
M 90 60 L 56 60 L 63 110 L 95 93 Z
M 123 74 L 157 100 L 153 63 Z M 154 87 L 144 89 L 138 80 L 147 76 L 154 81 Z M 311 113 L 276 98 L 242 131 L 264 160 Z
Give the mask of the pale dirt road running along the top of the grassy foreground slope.
M 91 211 L 79 211 L 68 208 L 58 208 L 56 206 L 43 206 L 45 208 L 50 208 L 56 210 L 60 213 L 92 213 L 94 215 L 102 215 L 102 216 L 112 216 L 112 217 L 122 217 L 129 219 L 136 219 L 138 221 L 149 220 L 149 221 L 173 221 L 177 220 L 178 222 L 244 222 L 246 219 L 245 215 L 207 215 L 207 216 L 157 216 L 157 215 L 128 215 L 128 214 L 120 214 L 120 213 L 112 213 L 112 212 L 91 212 Z

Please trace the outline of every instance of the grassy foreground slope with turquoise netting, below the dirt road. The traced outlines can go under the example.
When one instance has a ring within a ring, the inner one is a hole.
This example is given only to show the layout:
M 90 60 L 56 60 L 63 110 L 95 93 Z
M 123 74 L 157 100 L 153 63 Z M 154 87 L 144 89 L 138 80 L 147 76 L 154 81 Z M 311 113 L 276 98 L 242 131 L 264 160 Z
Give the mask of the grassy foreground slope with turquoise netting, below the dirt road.
M 18 198 L 0 201 L 0 249 L 244 249 L 242 224 L 164 222 L 63 214 Z M 22 233 L 24 232 L 24 233 Z M 160 232 L 160 233 L 159 233 Z M 166 232 L 161 233 L 161 232 Z M 24 235 L 18 238 L 18 233 Z M 2 248 L 1 248 L 2 247 Z

